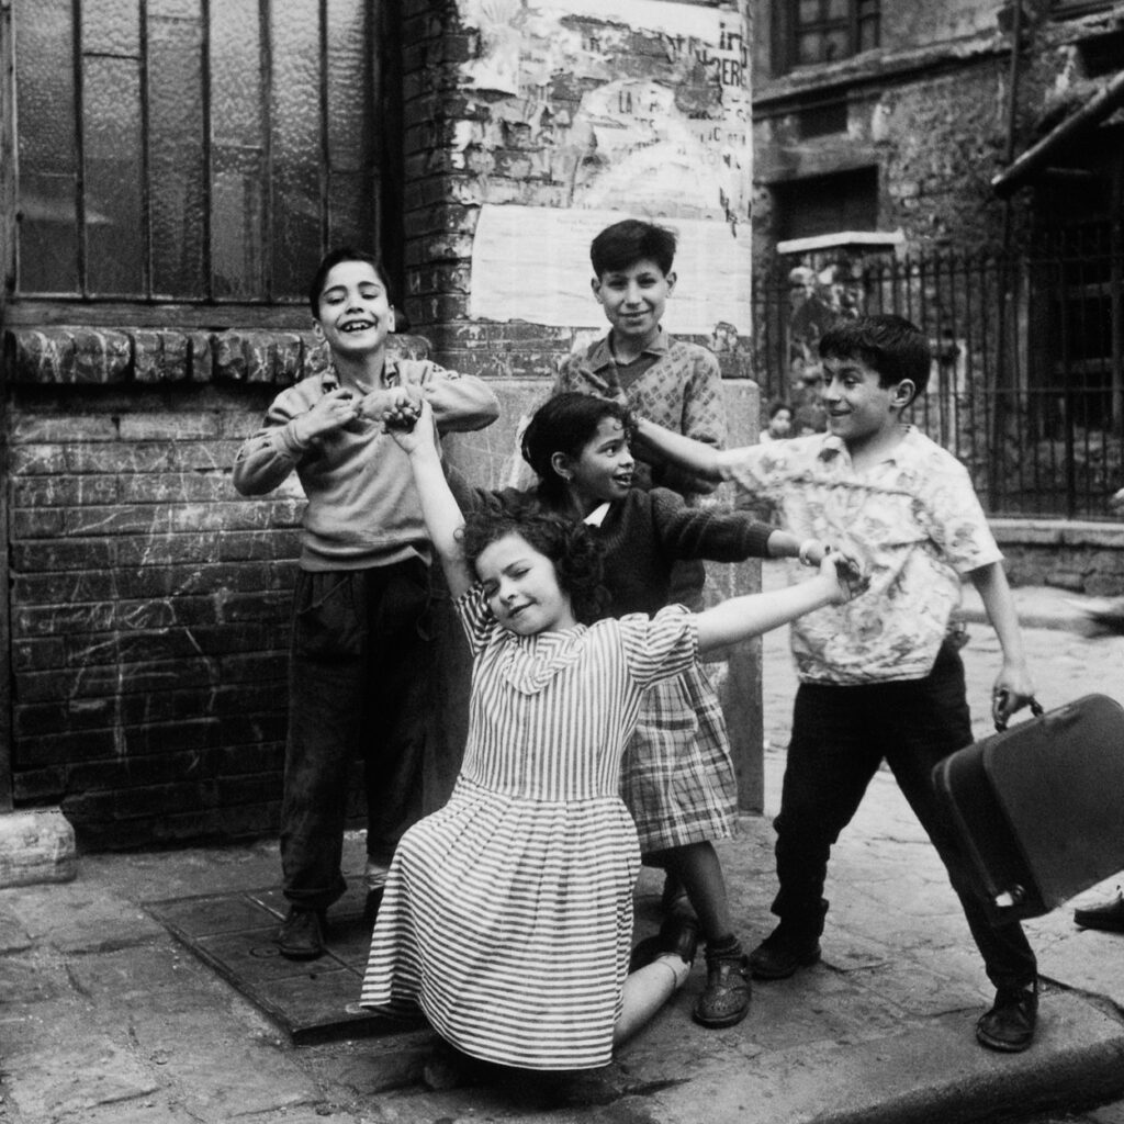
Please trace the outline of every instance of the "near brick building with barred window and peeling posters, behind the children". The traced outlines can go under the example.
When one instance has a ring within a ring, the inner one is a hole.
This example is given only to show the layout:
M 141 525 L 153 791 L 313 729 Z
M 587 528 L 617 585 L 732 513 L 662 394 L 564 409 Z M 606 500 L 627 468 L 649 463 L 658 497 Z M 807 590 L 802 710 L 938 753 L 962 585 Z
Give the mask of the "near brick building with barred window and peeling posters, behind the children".
M 588 243 L 625 215 L 679 229 L 668 326 L 719 351 L 735 438 L 756 417 L 747 3 L 117 9 L 0 9 L 0 808 L 61 807 L 89 847 L 275 827 L 302 498 L 229 469 L 320 361 L 329 245 L 381 245 L 396 346 L 496 387 L 451 445 L 481 482 L 600 330 Z M 760 806 L 755 650 L 731 669 Z

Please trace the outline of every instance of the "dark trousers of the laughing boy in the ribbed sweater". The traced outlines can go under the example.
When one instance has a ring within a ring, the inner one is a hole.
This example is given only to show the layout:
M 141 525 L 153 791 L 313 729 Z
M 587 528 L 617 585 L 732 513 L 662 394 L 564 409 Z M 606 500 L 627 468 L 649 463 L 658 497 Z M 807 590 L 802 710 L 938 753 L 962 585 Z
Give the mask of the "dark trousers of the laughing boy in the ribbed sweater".
M 325 909 L 346 889 L 355 760 L 365 769 L 372 859 L 389 863 L 419 818 L 429 647 L 429 571 L 419 560 L 298 574 L 281 804 L 284 895 L 294 905 Z

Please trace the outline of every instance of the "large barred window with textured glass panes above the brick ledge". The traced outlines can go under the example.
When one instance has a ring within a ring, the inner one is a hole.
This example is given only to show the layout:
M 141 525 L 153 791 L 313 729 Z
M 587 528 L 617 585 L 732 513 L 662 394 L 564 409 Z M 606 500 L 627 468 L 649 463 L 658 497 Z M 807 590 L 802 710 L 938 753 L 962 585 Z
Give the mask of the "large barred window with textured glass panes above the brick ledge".
M 378 241 L 380 4 L 13 0 L 16 297 L 285 303 Z

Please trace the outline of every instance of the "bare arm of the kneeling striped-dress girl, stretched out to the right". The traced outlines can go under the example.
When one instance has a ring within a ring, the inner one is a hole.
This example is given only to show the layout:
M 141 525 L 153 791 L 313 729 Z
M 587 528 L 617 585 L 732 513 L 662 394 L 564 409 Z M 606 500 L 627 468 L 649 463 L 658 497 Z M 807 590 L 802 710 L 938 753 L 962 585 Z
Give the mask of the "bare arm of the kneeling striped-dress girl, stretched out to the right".
M 846 561 L 826 554 L 819 573 L 810 581 L 778 590 L 776 593 L 746 593 L 732 597 L 696 617 L 699 651 L 709 652 L 727 644 L 759 636 L 826 605 L 842 605 L 867 588 L 867 580 L 854 575 Z

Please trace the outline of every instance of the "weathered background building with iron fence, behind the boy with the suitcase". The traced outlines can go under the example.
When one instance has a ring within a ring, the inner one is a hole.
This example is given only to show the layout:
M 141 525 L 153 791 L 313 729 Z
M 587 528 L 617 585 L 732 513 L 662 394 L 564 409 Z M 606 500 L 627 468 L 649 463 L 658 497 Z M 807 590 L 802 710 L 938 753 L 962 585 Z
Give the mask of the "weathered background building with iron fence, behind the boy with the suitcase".
M 909 317 L 935 355 L 914 418 L 972 472 L 1021 580 L 1124 592 L 1124 3 L 754 15 L 767 397 L 810 410 L 833 319 Z

